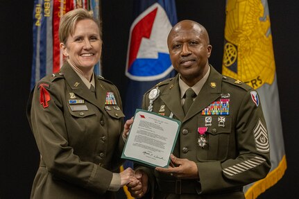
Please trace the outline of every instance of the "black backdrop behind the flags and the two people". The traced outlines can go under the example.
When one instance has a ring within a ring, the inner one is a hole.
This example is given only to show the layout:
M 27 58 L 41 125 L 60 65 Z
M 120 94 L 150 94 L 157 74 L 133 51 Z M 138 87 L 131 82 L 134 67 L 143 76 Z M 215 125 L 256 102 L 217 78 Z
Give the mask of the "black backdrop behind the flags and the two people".
M 126 96 L 124 76 L 133 1 L 103 0 L 103 76 Z M 178 20 L 193 19 L 210 33 L 210 63 L 221 71 L 225 1 L 177 0 Z M 268 0 L 288 168 L 259 198 L 299 198 L 299 1 Z M 33 1 L 0 0 L 0 198 L 29 198 L 39 153 L 26 120 L 32 56 Z M 135 96 L 131 96 L 134 100 Z M 297 102 L 297 103 L 296 103 Z

